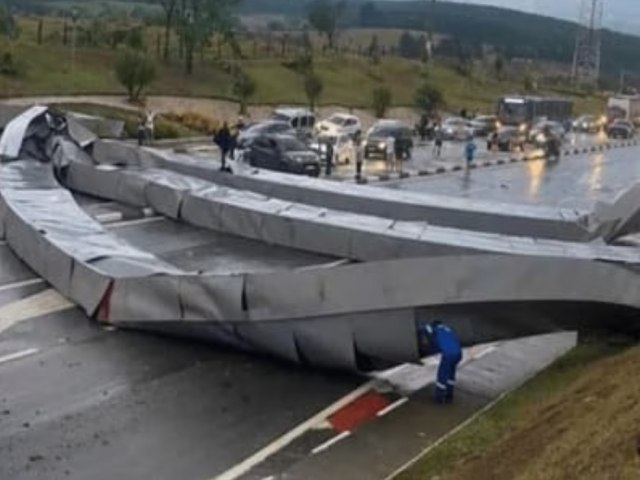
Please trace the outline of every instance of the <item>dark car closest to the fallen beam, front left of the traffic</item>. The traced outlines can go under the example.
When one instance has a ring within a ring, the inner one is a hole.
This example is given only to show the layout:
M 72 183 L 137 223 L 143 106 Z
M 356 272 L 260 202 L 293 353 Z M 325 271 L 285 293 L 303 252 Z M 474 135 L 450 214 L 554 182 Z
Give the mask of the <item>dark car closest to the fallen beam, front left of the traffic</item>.
M 249 144 L 244 160 L 252 167 L 317 177 L 320 158 L 298 138 L 288 135 L 262 135 Z

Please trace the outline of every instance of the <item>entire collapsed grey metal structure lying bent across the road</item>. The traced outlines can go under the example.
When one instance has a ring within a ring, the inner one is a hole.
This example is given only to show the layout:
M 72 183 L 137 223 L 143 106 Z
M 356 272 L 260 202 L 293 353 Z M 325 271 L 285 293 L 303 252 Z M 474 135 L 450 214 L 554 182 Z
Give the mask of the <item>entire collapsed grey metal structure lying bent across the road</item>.
M 635 190 L 589 215 L 229 175 L 188 156 L 99 141 L 45 107 L 7 125 L 0 158 L 0 234 L 104 322 L 356 370 L 417 361 L 416 326 L 430 308 L 640 308 L 640 249 L 602 240 L 634 231 Z M 184 271 L 106 230 L 65 187 L 317 257 L 298 268 Z M 479 330 L 463 335 L 478 340 Z

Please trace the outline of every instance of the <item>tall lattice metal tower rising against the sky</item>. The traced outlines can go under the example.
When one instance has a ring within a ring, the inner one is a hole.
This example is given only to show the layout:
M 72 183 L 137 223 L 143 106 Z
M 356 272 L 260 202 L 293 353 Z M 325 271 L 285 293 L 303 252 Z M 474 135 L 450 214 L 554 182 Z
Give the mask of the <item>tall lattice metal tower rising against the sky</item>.
M 573 55 L 573 80 L 594 85 L 600 77 L 600 35 L 604 0 L 580 0 L 576 50 Z

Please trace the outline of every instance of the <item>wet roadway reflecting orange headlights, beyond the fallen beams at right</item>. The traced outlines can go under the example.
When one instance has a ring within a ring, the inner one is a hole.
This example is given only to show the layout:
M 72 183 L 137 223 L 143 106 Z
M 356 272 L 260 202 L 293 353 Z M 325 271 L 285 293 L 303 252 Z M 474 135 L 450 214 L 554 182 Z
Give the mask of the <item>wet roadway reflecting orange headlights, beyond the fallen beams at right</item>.
M 611 200 L 640 179 L 640 148 L 534 160 L 494 168 L 380 184 L 415 192 L 441 193 L 564 208 L 590 209 Z

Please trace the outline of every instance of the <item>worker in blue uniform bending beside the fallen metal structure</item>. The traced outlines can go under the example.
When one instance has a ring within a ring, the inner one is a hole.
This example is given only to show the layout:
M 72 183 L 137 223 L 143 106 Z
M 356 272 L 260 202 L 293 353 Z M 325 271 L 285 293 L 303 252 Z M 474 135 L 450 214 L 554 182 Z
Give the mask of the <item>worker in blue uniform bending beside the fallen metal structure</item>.
M 451 328 L 439 321 L 422 324 L 420 332 L 427 337 L 430 352 L 441 354 L 436 379 L 435 401 L 437 403 L 451 403 L 456 384 L 456 369 L 462 360 L 460 341 Z

